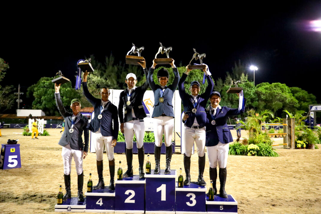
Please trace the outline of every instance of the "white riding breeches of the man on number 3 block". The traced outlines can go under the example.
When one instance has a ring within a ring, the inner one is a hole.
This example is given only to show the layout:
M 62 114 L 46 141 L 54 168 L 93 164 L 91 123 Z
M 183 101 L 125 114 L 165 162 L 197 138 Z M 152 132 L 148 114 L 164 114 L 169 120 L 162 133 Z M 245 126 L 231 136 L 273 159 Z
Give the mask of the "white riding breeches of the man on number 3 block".
M 185 130 L 185 155 L 191 157 L 194 141 L 197 147 L 197 155 L 203 157 L 205 154 L 205 128 L 193 129 L 190 127 L 184 128 Z

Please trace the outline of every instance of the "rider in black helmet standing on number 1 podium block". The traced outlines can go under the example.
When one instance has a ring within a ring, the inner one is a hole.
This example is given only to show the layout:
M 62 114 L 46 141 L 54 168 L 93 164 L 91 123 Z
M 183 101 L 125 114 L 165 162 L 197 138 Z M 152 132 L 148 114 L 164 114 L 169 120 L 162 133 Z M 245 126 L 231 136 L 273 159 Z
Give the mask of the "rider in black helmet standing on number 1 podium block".
M 174 72 L 174 81 L 167 86 L 169 73 L 167 69 L 161 68 L 157 72 L 157 78 L 160 85 L 156 85 L 153 80 L 153 73 L 157 64 L 153 60 L 153 65 L 149 69 L 147 81 L 154 92 L 154 110 L 152 118 L 154 118 L 154 136 L 155 136 L 155 170 L 154 174 L 160 174 L 160 148 L 163 139 L 163 133 L 166 146 L 166 169 L 165 174 L 170 174 L 170 161 L 172 159 L 172 135 L 174 130 L 174 110 L 173 110 L 173 95 L 179 81 L 178 70 L 174 64 L 174 59 L 170 65 Z

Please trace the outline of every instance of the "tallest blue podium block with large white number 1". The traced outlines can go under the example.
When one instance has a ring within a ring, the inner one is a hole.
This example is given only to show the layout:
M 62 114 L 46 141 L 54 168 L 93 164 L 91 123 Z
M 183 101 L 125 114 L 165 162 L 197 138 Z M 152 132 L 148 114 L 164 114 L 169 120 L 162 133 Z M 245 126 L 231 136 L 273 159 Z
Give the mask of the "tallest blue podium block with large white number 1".
M 160 174 L 146 175 L 146 199 L 145 213 L 167 214 L 175 213 L 175 178 L 176 170 L 172 169 L 170 174 L 164 174 L 161 169 Z

